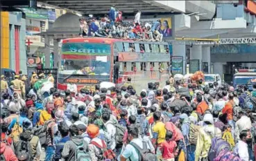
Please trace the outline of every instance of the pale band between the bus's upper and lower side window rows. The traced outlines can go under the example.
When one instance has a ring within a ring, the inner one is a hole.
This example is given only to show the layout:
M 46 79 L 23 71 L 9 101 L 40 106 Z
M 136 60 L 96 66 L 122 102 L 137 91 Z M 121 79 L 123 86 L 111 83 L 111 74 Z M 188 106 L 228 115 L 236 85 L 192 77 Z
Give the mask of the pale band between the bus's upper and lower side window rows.
M 169 61 L 168 53 L 119 53 L 119 61 L 126 62 L 166 62 Z

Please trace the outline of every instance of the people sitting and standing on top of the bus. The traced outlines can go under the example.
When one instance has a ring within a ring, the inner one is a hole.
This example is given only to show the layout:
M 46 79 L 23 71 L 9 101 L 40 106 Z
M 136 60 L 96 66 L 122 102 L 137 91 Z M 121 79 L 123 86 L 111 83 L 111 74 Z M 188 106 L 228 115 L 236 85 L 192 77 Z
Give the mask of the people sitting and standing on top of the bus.
M 162 41 L 163 37 L 171 36 L 171 28 L 167 21 L 157 20 L 153 24 L 140 23 L 142 12 L 135 12 L 133 23 L 124 23 L 122 12 L 114 6 L 109 14 L 100 20 L 96 17 L 81 18 L 80 37 L 110 37 L 119 39 L 139 39 L 144 41 Z M 161 30 L 163 26 L 163 30 Z

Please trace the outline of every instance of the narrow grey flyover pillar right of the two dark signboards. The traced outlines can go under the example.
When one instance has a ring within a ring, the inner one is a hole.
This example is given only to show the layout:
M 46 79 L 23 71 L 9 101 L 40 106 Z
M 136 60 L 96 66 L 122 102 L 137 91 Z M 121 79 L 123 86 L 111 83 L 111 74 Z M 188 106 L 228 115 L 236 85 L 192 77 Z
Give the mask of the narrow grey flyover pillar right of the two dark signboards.
M 211 73 L 211 52 L 210 52 L 210 46 L 203 46 L 202 47 L 202 63 L 203 63 L 203 66 L 205 66 L 205 70 L 203 72 L 205 72 L 205 73 L 207 72 L 207 73 L 210 74 Z

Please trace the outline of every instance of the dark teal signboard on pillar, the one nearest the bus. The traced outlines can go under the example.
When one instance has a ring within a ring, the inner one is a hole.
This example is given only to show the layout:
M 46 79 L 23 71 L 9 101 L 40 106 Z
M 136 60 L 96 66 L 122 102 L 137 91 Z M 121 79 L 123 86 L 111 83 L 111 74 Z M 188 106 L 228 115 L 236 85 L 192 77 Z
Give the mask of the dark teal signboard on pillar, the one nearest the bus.
M 181 56 L 171 57 L 171 71 L 173 75 L 183 74 L 183 57 Z

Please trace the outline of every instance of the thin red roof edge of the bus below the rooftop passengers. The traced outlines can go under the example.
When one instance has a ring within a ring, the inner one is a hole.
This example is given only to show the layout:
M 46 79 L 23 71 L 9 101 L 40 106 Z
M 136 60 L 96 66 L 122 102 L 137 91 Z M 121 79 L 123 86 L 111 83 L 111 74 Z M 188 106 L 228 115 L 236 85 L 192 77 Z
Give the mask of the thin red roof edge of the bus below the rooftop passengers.
M 134 41 L 132 39 L 113 39 L 113 38 L 105 38 L 105 37 L 76 37 L 76 38 L 63 39 L 62 43 L 65 44 L 65 43 L 68 43 L 68 42 L 92 42 L 92 43 L 112 44 L 113 42 L 117 42 L 117 41 L 125 41 L 125 42 L 128 42 L 128 43 L 168 45 L 167 42 L 160 42 L 160 41 Z

